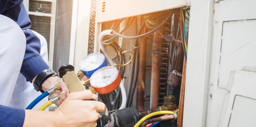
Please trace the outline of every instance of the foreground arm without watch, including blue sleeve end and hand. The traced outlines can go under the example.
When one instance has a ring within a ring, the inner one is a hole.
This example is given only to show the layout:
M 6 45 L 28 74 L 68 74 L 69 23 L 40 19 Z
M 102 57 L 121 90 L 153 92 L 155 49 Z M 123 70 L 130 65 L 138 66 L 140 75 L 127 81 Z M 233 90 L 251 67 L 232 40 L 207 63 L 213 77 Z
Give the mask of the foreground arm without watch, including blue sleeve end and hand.
M 65 91 L 64 93 L 65 94 Z M 84 101 L 96 99 L 90 90 L 75 92 L 68 95 L 67 99 L 59 106 L 58 110 L 37 111 L 23 110 L 0 105 L 1 127 L 92 127 L 96 120 L 106 109 L 105 104 L 97 101 Z

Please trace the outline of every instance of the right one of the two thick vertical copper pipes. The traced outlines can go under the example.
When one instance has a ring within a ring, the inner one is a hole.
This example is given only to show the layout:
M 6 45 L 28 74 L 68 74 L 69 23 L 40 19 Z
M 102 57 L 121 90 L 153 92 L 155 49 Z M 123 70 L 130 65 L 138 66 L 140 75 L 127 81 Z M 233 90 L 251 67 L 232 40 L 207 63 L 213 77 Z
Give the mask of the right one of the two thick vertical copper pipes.
M 160 27 L 158 30 L 162 32 Z M 155 35 L 160 36 L 158 31 L 154 32 Z M 160 57 L 161 57 L 161 42 L 162 39 L 157 36 L 153 36 L 152 44 L 152 71 L 151 71 L 151 89 L 150 89 L 150 108 L 156 108 L 158 106 L 159 98 L 159 78 L 160 78 Z

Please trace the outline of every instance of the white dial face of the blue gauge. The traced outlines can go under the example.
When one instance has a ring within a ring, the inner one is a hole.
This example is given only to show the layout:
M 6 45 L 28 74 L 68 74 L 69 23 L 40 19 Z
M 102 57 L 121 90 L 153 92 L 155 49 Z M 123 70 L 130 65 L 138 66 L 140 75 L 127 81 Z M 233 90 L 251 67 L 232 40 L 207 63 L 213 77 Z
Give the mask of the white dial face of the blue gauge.
M 80 62 L 82 71 L 91 71 L 98 68 L 105 60 L 105 56 L 101 53 L 92 53 L 85 56 Z

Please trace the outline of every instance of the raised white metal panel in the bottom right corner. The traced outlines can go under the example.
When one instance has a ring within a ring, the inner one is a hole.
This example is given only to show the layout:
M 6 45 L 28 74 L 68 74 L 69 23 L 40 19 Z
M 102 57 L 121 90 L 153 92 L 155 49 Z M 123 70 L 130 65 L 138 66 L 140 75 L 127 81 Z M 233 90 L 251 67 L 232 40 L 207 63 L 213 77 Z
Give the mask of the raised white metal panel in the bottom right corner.
M 222 127 L 254 126 L 256 124 L 254 120 L 256 117 L 256 73 L 249 72 L 249 70 L 236 71 L 232 79 L 232 89 Z M 240 97 L 237 95 L 240 95 Z M 242 108 L 240 108 L 241 106 Z

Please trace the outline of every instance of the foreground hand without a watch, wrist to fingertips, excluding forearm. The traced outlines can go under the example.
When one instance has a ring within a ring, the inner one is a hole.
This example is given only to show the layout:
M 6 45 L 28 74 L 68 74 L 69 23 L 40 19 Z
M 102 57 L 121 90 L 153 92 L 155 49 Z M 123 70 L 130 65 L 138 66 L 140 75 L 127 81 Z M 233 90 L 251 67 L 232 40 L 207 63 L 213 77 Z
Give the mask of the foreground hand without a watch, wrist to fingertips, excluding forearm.
M 98 112 L 106 110 L 102 102 L 88 101 L 97 95 L 90 90 L 70 93 L 67 99 L 54 111 L 56 126 L 95 127 L 100 118 Z M 60 124 L 61 123 L 61 124 Z

